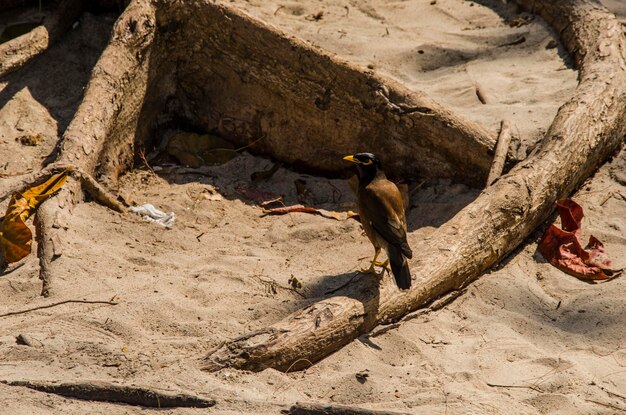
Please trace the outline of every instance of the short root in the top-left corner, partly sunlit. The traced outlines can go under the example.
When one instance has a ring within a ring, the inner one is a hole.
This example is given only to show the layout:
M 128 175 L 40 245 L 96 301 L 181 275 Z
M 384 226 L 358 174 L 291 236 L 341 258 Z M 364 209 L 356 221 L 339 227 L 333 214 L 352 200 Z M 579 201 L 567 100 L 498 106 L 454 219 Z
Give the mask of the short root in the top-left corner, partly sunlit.
M 41 26 L 1 44 L 0 77 L 26 65 L 59 40 L 83 12 L 84 4 L 83 0 L 60 0 Z

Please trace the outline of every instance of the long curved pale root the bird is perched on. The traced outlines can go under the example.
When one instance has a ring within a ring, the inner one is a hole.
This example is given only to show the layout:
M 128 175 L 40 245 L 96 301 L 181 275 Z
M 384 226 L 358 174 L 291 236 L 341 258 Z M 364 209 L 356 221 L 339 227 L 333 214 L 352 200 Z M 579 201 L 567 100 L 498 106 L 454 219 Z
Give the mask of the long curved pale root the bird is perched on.
M 626 132 L 626 47 L 615 16 L 587 0 L 518 0 L 557 33 L 580 70 L 574 96 L 558 111 L 532 154 L 426 240 L 410 239 L 418 278 L 359 284 L 350 297 L 314 303 L 258 334 L 225 343 L 204 368 L 297 370 L 379 324 L 397 321 L 432 298 L 458 289 L 514 250 L 621 145 Z

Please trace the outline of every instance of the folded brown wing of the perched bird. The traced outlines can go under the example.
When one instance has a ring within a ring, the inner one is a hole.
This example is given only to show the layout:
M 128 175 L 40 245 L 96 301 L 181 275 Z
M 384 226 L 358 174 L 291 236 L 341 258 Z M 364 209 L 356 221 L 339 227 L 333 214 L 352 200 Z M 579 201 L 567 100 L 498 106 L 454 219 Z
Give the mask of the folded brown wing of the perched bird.
M 360 193 L 362 215 L 370 221 L 374 230 L 388 244 L 410 252 L 406 242 L 402 195 L 396 185 L 388 180 L 375 180 L 360 189 Z

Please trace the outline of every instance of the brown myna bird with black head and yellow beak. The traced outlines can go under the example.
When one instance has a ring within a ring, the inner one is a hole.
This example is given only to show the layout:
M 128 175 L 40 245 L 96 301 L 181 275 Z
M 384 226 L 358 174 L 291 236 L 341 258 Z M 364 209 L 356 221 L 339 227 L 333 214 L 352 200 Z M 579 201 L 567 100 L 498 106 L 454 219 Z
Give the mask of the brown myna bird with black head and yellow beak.
M 374 245 L 372 263 L 361 271 L 375 273 L 374 266 L 389 270 L 391 265 L 398 288 L 409 289 L 411 271 L 407 258 L 410 259 L 413 252 L 406 240 L 406 216 L 398 186 L 387 180 L 380 160 L 372 153 L 357 153 L 343 159 L 354 163 L 358 170 L 359 216 L 365 234 Z M 385 262 L 376 261 L 381 249 L 387 252 Z

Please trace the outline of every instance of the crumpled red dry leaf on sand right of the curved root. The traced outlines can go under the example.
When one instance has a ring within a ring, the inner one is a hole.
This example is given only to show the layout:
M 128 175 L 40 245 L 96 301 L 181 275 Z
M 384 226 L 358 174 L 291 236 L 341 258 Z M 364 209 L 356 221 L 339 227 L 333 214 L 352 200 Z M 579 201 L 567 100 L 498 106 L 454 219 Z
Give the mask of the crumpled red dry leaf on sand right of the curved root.
M 613 273 L 604 245 L 591 236 L 585 248 L 578 239 L 583 208 L 570 199 L 556 202 L 563 229 L 552 224 L 539 241 L 539 252 L 555 267 L 583 280 L 604 280 Z

